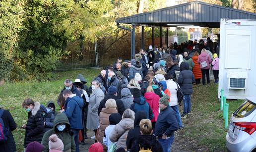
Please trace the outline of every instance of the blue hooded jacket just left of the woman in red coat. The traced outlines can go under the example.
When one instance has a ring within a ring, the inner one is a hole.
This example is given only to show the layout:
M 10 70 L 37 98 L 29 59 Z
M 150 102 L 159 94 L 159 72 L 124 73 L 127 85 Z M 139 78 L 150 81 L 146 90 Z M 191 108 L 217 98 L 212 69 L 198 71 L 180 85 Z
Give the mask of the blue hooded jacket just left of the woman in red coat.
M 143 96 L 134 98 L 133 104 L 131 104 L 130 109 L 137 113 L 138 111 L 145 111 L 147 114 L 147 119 L 151 120 L 154 117 L 151 107 L 147 103 Z

